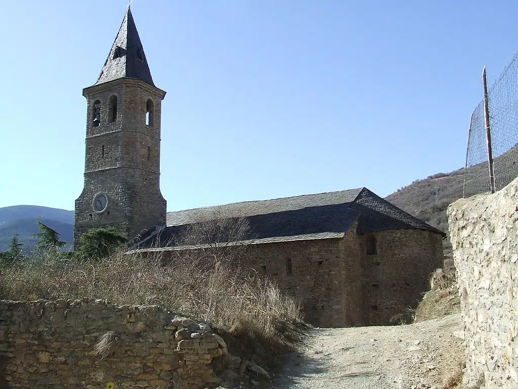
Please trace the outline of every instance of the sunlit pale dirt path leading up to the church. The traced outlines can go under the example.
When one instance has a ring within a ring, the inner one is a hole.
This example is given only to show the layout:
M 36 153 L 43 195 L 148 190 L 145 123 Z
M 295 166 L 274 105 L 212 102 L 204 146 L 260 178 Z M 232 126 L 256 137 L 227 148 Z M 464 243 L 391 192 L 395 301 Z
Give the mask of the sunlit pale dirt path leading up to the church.
M 312 329 L 272 387 L 441 388 L 464 355 L 462 327 L 455 314 L 404 326 Z

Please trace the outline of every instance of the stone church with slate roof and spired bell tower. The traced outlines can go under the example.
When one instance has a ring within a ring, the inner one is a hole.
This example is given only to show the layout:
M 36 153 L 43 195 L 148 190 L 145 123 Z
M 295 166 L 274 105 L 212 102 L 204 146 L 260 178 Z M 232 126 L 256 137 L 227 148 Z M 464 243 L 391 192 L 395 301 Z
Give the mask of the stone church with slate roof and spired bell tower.
M 387 325 L 415 309 L 443 266 L 442 231 L 367 188 L 247 201 L 167 213 L 160 191 L 162 100 L 131 9 L 87 99 L 84 187 L 74 245 L 91 228 L 114 227 L 133 253 L 181 247 L 182 231 L 213 215 L 246 220 L 232 242 L 253 248 L 243 263 L 268 274 L 320 327 Z M 167 179 L 167 178 L 165 178 Z

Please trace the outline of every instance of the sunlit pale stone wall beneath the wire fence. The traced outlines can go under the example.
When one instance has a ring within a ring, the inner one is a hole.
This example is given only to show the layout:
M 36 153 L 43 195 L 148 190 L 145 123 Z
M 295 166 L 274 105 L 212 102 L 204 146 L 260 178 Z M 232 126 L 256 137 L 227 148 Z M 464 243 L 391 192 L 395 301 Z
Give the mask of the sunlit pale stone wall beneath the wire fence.
M 518 179 L 448 208 L 465 323 L 466 387 L 518 387 Z

